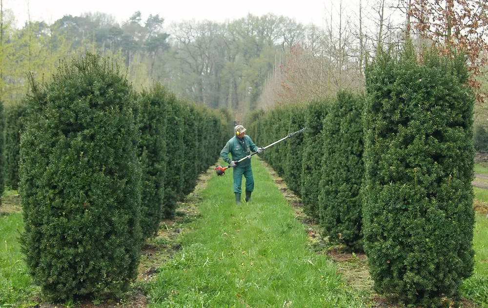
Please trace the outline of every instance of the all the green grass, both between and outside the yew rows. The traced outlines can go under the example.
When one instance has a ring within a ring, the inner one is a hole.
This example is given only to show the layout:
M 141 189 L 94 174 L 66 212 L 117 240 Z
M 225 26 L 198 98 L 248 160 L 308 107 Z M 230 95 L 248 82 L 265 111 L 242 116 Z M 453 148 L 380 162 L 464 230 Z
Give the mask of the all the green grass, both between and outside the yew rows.
M 225 176 L 212 174 L 206 188 L 198 192 L 192 201 L 198 215 L 190 216 L 184 213 L 190 212 L 188 209 L 180 209 L 183 216 L 176 218 L 178 223 L 162 223 L 161 231 L 174 233 L 175 238 L 168 241 L 157 237 L 149 244 L 176 249 L 142 257 L 142 272 L 151 272 L 154 267 L 156 275 L 147 280 L 138 278 L 132 289 L 145 291 L 147 307 L 378 307 L 372 304 L 376 295 L 369 283 L 359 284 L 361 288 L 349 283 L 368 276 L 367 261 L 360 258 L 352 262 L 353 255 L 341 263 L 332 261 L 325 251 L 310 249 L 307 227 L 295 218 L 260 161 L 253 160 L 253 172 L 256 187 L 251 203 L 245 204 L 243 193 L 243 205 L 234 204 L 232 170 L 228 170 Z M 488 204 L 488 190 L 474 191 L 476 199 Z M 0 212 L 0 308 L 27 308 L 40 303 L 40 290 L 33 285 L 20 252 L 23 221 L 18 203 L 16 192 L 4 194 Z M 485 216 L 476 215 L 475 270 L 464 282 L 462 292 L 479 307 L 488 308 Z M 90 301 L 86 306 L 74 304 L 69 307 L 93 307 Z M 145 307 L 128 304 L 124 307 Z

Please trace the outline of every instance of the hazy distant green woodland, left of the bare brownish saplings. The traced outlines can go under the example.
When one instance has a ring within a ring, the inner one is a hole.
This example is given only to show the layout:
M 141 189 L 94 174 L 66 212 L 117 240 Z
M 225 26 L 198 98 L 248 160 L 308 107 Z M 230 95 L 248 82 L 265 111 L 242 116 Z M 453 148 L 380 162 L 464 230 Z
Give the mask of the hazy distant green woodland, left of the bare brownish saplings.
M 165 25 L 159 15 L 135 12 L 118 22 L 106 13 L 64 16 L 53 23 L 14 27 L 14 13 L 1 11 L 0 96 L 16 103 L 28 89 L 26 72 L 50 78 L 60 58 L 84 52 L 116 58 L 137 90 L 152 80 L 179 97 L 207 107 L 253 109 L 264 80 L 284 61 L 306 29 L 272 14 L 216 23 Z

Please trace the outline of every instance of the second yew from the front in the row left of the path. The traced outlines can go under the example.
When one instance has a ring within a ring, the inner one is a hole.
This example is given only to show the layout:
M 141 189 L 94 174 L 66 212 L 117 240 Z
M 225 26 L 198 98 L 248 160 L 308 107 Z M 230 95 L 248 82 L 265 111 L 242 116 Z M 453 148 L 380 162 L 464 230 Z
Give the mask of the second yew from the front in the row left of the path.
M 164 180 L 166 176 L 166 97 L 161 84 L 139 97 L 139 129 L 141 142 L 141 229 L 144 238 L 155 235 L 163 214 Z

